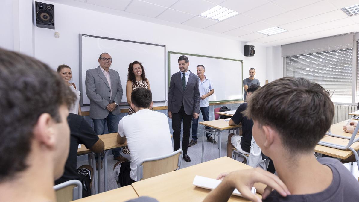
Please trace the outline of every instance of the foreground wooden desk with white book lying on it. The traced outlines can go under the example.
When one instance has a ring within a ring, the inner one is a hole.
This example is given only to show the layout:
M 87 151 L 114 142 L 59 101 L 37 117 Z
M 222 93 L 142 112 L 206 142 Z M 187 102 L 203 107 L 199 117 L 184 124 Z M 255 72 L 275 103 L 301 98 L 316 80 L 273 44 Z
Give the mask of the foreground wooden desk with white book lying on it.
M 250 169 L 251 167 L 227 156 L 186 167 L 153 178 L 132 183 L 138 196 L 149 196 L 158 201 L 203 201 L 210 192 L 208 189 L 195 187 L 196 175 L 216 178 L 220 173 Z M 264 190 L 264 184 L 256 184 L 257 190 Z M 261 195 L 257 193 L 261 198 Z M 231 196 L 229 201 L 248 201 L 239 196 Z

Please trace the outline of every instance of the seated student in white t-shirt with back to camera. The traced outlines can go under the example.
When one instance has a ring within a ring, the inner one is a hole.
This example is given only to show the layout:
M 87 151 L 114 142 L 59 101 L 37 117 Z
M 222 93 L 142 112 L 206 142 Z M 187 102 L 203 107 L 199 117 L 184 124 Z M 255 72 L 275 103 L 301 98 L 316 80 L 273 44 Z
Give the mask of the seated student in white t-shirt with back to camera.
M 121 187 L 137 181 L 137 164 L 141 160 L 172 153 L 167 116 L 150 110 L 152 106 L 151 91 L 137 88 L 131 93 L 135 113 L 118 123 L 117 142 L 123 144 L 127 139 L 131 157 L 131 161 L 119 161 L 114 166 L 115 179 Z

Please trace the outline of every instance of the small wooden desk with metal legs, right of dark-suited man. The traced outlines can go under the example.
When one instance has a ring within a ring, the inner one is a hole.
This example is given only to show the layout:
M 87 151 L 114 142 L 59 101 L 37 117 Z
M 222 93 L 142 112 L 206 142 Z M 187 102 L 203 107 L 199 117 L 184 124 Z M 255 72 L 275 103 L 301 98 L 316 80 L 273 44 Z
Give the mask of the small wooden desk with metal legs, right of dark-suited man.
M 218 136 L 219 157 L 221 157 L 222 156 L 222 132 L 223 132 L 223 130 L 229 130 L 229 129 L 235 129 L 235 128 L 242 127 L 242 124 L 228 125 L 228 121 L 225 121 L 224 119 L 218 119 L 218 120 L 212 120 L 212 121 L 202 121 L 202 122 L 200 122 L 200 124 L 210 127 L 210 129 L 205 129 L 205 127 L 203 127 L 202 160 L 201 160 L 201 162 L 203 162 L 204 137 L 205 137 L 206 133 Z

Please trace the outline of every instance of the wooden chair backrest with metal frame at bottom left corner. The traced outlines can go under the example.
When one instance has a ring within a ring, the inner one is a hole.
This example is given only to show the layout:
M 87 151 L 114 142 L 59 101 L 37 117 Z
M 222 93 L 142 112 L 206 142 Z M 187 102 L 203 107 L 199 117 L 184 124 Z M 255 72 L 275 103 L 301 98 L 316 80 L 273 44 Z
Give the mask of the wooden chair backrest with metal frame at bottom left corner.
M 69 180 L 53 186 L 57 202 L 69 202 L 82 198 L 82 183 L 79 180 Z

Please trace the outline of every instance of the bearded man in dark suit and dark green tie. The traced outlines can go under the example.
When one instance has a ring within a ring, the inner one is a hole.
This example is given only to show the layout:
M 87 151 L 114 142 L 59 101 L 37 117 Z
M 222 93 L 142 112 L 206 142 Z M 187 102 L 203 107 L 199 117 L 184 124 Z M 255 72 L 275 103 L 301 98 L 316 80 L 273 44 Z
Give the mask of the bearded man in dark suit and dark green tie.
M 198 119 L 201 101 L 198 77 L 188 70 L 189 65 L 187 56 L 182 55 L 178 58 L 180 72 L 172 74 L 168 89 L 168 117 L 173 119 L 173 151 L 180 149 L 183 119 L 182 150 L 183 159 L 187 162 L 191 161 L 187 155 L 187 148 L 190 141 L 192 117 Z

